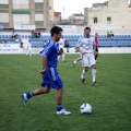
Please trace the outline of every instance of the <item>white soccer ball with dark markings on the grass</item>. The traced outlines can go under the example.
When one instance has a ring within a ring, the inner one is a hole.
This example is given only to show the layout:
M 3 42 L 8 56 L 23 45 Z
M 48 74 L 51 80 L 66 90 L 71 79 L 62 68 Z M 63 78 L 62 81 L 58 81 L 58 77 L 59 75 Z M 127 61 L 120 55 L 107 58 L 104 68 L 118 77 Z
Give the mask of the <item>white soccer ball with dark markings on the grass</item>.
M 90 114 L 92 114 L 92 106 L 87 103 L 84 103 L 81 105 L 80 111 L 81 111 L 81 114 L 88 114 L 90 115 Z

